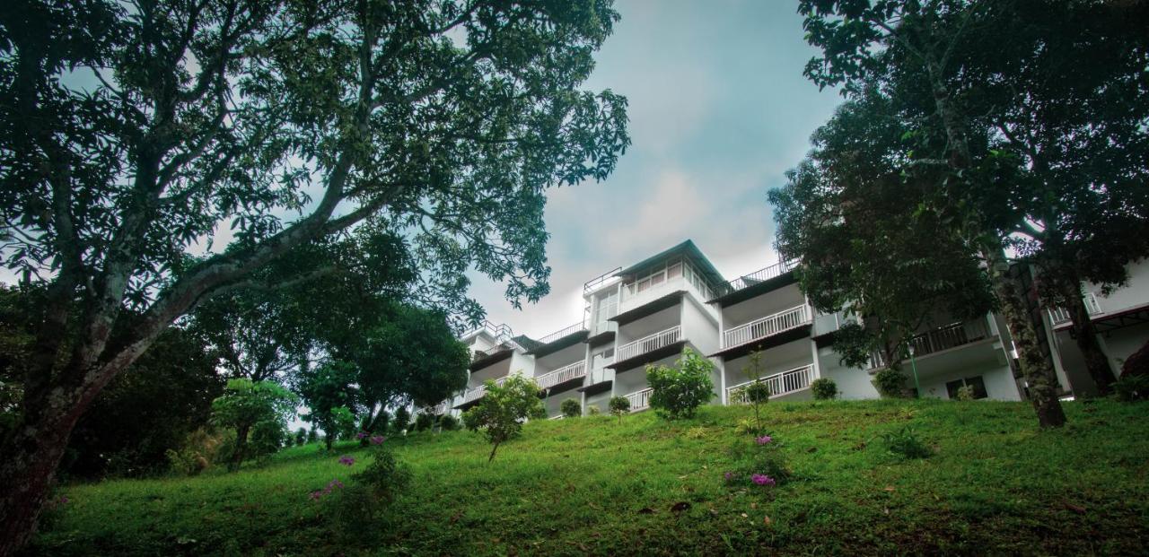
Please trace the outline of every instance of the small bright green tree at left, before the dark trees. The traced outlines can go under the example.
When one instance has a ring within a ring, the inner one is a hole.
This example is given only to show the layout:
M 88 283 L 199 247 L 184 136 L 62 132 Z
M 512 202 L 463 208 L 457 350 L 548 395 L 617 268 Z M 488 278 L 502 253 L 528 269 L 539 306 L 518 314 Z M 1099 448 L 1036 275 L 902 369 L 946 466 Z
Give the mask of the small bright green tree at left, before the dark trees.
M 239 470 L 247 458 L 248 433 L 267 424 L 283 430 L 295 415 L 295 395 L 271 381 L 231 379 L 224 395 L 211 401 L 211 421 L 236 430 L 236 448 L 228 470 Z

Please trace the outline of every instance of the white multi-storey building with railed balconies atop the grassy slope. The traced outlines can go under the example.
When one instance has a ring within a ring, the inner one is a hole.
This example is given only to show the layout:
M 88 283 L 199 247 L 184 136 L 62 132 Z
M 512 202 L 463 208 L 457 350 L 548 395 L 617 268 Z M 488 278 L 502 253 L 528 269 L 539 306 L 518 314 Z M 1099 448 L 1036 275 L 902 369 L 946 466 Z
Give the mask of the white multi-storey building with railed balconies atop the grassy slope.
M 473 354 L 468 388 L 433 411 L 465 410 L 483 397 L 485 380 L 501 382 L 512 373 L 535 379 L 553 418 L 566 399 L 578 400 L 584 411 L 606 412 L 612 396 L 625 396 L 632 411 L 641 411 L 649 408 L 650 394 L 643 370 L 673 364 L 684 347 L 715 362 L 716 404 L 743 402 L 751 353 L 761 355 L 758 380 L 770 385 L 774 400 L 810 399 L 810 384 L 818 378 L 833 379 L 842 399 L 878 397 L 871 378 L 880 356 L 869 369 L 843 366 L 833 342 L 846 317 L 816 312 L 793 270 L 793 263 L 779 262 L 727 281 L 687 240 L 608 271 L 584 285 L 585 315 L 574 325 L 538 340 L 489 323 L 462 335 Z M 1149 338 L 1149 264 L 1134 265 L 1131 273 L 1131 283 L 1109 297 L 1085 285 L 1115 370 Z M 1042 315 L 1063 390 L 1092 388 L 1064 312 L 1044 309 Z M 920 388 L 923 396 L 954 397 L 966 385 L 977 397 L 1025 396 L 1008 328 L 996 315 L 939 316 L 910 345 L 909 387 Z

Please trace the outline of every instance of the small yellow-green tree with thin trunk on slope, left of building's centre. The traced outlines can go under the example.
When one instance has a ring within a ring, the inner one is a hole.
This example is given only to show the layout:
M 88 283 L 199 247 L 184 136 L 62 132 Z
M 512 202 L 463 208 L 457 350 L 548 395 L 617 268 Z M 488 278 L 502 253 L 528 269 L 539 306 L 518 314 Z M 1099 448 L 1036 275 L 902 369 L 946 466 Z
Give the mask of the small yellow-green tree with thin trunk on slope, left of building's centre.
M 483 430 L 492 444 L 491 456 L 487 458 L 491 462 L 500 444 L 518 436 L 523 421 L 545 410 L 539 400 L 539 386 L 533 379 L 516 373 L 501 386 L 489 379 L 484 385 L 486 394 L 479 399 L 477 407 L 463 413 L 463 424 L 472 432 Z

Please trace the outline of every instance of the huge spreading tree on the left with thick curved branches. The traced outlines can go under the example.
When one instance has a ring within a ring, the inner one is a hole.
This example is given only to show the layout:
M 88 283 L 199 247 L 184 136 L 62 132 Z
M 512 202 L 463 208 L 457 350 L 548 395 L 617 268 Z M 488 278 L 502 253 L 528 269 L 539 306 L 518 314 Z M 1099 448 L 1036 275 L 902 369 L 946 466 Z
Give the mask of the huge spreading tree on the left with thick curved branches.
M 545 188 L 603 179 L 630 141 L 625 99 L 578 88 L 617 18 L 601 0 L 6 7 L 5 265 L 46 285 L 46 318 L 0 448 L 0 554 L 103 386 L 198 303 L 313 278 L 253 277 L 293 248 L 402 231 L 424 292 L 471 318 L 470 266 L 516 304 L 546 294 Z M 129 307 L 142 319 L 109 343 Z

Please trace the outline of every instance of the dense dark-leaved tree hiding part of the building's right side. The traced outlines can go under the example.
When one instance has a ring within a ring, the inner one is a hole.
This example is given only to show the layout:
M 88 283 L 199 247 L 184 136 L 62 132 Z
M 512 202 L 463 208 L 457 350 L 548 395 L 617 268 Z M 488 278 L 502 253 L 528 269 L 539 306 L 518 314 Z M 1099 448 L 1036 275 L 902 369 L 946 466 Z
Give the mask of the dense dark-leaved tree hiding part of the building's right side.
M 921 210 L 933 177 L 908 175 L 912 130 L 867 88 L 811 137 L 813 149 L 769 192 L 776 247 L 818 311 L 846 312 L 834 339 L 843 364 L 902 373 L 917 331 L 939 312 L 972 319 L 994 308 L 976 247 Z

